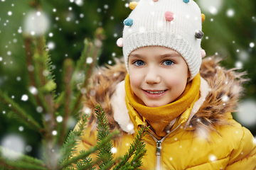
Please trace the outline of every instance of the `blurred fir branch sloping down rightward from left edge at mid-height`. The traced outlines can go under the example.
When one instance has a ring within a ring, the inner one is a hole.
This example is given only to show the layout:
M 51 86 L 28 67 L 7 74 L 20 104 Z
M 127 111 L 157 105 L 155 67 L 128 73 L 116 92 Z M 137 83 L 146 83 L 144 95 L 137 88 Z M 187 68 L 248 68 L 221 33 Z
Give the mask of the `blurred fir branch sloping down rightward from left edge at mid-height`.
M 6 106 L 11 104 L 11 111 L 14 113 L 19 120 L 21 120 L 24 124 L 28 126 L 28 128 L 31 128 L 32 130 L 40 131 L 41 125 L 34 120 L 31 115 L 26 113 L 26 111 L 21 108 L 18 103 L 14 102 L 11 98 L 9 98 L 8 94 L 3 93 L 3 91 L 0 90 L 0 100 L 1 104 L 5 104 Z

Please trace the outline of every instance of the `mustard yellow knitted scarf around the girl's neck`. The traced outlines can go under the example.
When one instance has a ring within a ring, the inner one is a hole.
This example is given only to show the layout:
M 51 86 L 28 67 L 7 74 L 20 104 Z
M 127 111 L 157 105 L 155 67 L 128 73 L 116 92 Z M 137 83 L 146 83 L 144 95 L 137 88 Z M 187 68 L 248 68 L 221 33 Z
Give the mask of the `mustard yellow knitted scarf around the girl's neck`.
M 193 78 L 192 81 L 188 82 L 186 85 L 183 94 L 179 96 L 176 101 L 169 103 L 165 106 L 159 106 L 155 108 L 151 108 L 142 104 L 139 101 L 137 96 L 132 91 L 129 74 L 124 79 L 125 81 L 125 91 L 127 95 L 128 102 L 132 105 L 132 107 L 141 114 L 146 121 L 151 125 L 151 127 L 156 132 L 156 135 L 159 137 L 164 137 L 166 132 L 164 128 L 166 125 L 181 115 L 188 107 L 195 103 L 199 98 L 199 89 L 201 84 L 201 76 L 198 73 L 196 77 Z

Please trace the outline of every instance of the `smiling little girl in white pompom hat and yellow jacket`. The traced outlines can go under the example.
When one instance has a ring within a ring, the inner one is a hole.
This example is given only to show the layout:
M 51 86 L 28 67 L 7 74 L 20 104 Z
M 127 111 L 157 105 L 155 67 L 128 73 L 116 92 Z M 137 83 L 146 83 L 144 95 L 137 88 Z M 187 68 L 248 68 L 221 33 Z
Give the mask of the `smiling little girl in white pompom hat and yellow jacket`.
M 117 41 L 125 64 L 97 70 L 84 103 L 91 109 L 100 103 L 110 128 L 122 132 L 114 157 L 147 125 L 142 169 L 256 169 L 255 139 L 230 113 L 245 79 L 214 57 L 202 61 L 197 4 L 140 0 L 130 8 Z M 96 145 L 95 122 L 92 113 L 76 154 Z

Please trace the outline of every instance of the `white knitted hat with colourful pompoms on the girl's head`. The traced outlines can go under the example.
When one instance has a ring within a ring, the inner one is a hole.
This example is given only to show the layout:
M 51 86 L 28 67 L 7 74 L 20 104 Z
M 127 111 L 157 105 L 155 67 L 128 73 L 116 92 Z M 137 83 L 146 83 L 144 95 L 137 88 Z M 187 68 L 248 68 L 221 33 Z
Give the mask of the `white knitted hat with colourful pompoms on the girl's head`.
M 128 70 L 129 54 L 145 46 L 169 47 L 180 53 L 188 64 L 191 79 L 201 67 L 201 38 L 203 38 L 201 10 L 193 0 L 140 0 L 124 20 L 123 47 Z M 123 42 L 122 42 L 123 41 Z

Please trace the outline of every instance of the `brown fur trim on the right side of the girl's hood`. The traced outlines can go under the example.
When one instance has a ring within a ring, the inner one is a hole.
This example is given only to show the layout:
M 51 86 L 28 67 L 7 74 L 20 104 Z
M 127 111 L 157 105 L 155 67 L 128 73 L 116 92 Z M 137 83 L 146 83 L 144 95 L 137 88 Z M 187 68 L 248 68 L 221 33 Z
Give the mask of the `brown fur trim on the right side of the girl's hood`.
M 220 60 L 208 57 L 201 64 L 200 74 L 206 79 L 210 92 L 206 101 L 191 119 L 190 125 L 196 130 L 215 131 L 218 126 L 228 125 L 226 113 L 234 112 L 243 92 L 242 78 L 245 72 L 226 70 L 219 65 Z

